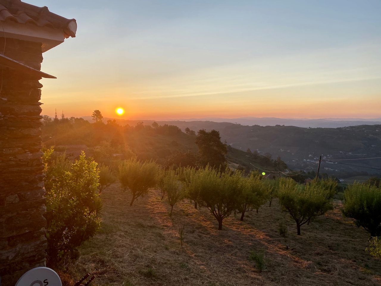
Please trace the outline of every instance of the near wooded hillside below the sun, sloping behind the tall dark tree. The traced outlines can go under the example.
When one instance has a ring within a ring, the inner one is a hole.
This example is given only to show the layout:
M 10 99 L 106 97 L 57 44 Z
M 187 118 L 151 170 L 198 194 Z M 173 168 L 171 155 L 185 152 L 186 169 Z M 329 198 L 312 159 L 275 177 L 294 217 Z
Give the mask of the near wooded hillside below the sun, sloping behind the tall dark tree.
M 198 148 L 195 135 L 189 135 L 174 125 L 120 126 L 116 122 L 108 124 L 90 124 L 83 119 L 64 119 L 58 122 L 45 122 L 42 126 L 42 138 L 45 146 L 56 145 L 56 151 L 64 152 L 74 147 L 87 146 L 88 154 L 99 163 L 110 163 L 114 155 L 128 159 L 136 155 L 139 160 L 155 160 L 165 165 L 167 160 L 190 151 L 197 156 Z M 78 152 L 77 152 L 78 153 Z M 249 155 L 247 152 L 228 148 L 227 161 L 232 168 L 253 169 L 250 163 L 270 170 L 279 167 L 275 162 L 261 155 Z

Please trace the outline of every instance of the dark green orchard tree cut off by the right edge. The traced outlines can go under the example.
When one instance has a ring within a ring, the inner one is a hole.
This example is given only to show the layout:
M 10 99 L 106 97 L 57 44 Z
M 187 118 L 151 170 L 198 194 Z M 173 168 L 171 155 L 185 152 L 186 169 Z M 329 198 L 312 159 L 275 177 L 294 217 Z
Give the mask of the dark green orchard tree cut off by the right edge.
M 346 217 L 354 219 L 371 236 L 381 235 L 381 188 L 375 185 L 354 183 L 344 191 Z

